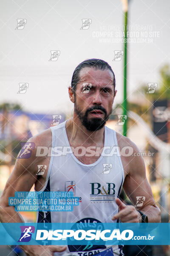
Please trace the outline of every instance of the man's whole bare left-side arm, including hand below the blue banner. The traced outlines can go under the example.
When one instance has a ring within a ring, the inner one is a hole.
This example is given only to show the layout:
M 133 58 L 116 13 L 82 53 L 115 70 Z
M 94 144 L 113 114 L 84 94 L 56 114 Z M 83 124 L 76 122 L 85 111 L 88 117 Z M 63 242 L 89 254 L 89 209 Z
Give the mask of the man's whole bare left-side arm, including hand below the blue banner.
M 14 170 L 11 173 L 6 183 L 3 194 L 0 198 L 0 221 L 3 223 L 21 223 L 24 222 L 19 212 L 16 212 L 14 206 L 8 205 L 8 198 L 14 197 L 14 193 L 17 191 L 30 191 L 31 187 L 37 182 L 37 165 L 41 164 L 43 157 L 36 157 L 37 145 L 46 145 L 45 135 L 38 135 L 32 137 L 28 142 L 35 143 L 35 149 L 31 153 L 31 157 L 28 159 L 17 159 Z M 48 141 L 50 138 L 48 137 Z M 61 252 L 65 250 L 65 247 L 58 246 L 41 246 L 41 245 L 22 245 L 22 249 L 28 256 L 52 256 L 53 252 Z

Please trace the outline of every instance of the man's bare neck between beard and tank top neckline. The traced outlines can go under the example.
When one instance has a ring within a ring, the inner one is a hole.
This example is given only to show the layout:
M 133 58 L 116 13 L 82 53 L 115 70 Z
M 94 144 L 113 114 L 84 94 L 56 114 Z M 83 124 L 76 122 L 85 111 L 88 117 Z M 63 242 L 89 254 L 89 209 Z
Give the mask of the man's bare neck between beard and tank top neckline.
M 98 131 L 88 131 L 78 116 L 68 119 L 66 132 L 70 143 L 80 145 L 103 145 L 105 126 Z

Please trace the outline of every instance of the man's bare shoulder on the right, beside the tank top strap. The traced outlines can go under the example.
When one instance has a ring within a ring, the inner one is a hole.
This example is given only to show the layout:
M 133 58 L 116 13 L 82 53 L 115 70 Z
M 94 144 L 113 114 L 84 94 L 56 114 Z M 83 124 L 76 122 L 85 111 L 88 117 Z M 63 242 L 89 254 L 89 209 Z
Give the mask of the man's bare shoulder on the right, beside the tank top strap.
M 116 137 L 121 152 L 120 154 L 125 176 L 127 174 L 132 174 L 133 172 L 138 172 L 138 170 L 140 170 L 140 172 L 143 170 L 145 173 L 144 159 L 136 144 L 128 137 L 125 137 L 118 132 L 116 132 Z

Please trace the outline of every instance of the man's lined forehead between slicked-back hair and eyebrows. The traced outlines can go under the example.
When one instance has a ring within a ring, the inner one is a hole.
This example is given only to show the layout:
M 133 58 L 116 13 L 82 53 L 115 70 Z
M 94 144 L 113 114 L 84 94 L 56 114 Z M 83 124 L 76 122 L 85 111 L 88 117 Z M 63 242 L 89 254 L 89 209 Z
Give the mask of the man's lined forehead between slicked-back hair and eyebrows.
M 84 81 L 91 82 L 92 84 L 112 84 L 113 85 L 113 74 L 111 70 L 99 70 L 93 67 L 85 67 L 80 70 L 79 83 Z

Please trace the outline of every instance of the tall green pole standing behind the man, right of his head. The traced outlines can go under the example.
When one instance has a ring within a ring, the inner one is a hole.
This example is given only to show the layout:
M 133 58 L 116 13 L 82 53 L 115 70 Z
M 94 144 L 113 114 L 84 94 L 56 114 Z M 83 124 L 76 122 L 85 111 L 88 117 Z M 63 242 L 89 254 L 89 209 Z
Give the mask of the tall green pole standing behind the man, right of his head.
M 125 42 L 124 42 L 124 87 L 123 87 L 123 115 L 127 116 L 127 12 L 125 12 Z M 127 119 L 123 125 L 123 135 L 127 136 Z

